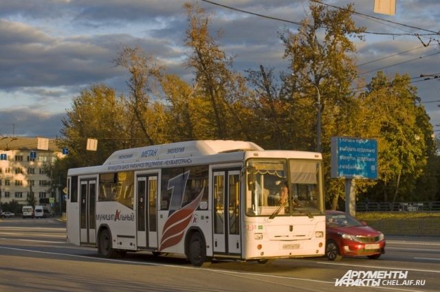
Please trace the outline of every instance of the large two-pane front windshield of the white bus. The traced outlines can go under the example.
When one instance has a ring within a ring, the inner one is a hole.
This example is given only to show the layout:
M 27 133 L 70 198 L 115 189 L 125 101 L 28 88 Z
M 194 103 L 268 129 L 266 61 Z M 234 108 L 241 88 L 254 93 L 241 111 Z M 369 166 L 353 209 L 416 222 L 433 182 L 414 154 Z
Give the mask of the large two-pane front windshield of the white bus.
M 321 163 L 304 159 L 249 159 L 246 164 L 248 216 L 322 214 Z

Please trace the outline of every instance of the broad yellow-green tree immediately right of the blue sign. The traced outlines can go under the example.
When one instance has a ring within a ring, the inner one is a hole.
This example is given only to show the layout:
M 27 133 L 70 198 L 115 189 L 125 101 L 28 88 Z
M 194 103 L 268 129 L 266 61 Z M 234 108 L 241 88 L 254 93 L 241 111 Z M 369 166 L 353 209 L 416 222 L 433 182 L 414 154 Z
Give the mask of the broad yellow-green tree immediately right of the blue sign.
M 372 198 L 392 201 L 414 190 L 434 153 L 432 126 L 407 75 L 389 80 L 382 72 L 362 95 L 362 131 L 378 142 L 378 179 Z M 409 198 L 407 198 L 409 199 Z

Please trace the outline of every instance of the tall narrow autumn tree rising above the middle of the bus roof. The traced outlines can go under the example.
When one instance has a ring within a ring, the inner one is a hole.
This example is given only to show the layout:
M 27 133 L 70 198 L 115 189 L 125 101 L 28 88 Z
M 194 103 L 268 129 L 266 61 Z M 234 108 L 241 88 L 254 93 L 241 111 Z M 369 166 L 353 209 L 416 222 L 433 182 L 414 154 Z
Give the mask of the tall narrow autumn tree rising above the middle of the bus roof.
M 226 56 L 209 33 L 209 17 L 197 3 L 185 3 L 188 15 L 186 45 L 192 49 L 188 67 L 194 69 L 199 96 L 210 103 L 208 115 L 211 137 L 217 139 L 250 139 L 248 122 L 243 112 L 248 101 L 248 88 L 241 74 L 229 69 L 232 58 Z

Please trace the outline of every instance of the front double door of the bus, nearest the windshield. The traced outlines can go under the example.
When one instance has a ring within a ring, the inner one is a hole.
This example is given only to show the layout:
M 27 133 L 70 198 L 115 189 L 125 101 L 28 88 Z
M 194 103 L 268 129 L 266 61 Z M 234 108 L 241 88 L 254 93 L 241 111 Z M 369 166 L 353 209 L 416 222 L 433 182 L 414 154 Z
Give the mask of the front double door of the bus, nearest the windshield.
M 214 252 L 240 254 L 240 171 L 213 173 Z

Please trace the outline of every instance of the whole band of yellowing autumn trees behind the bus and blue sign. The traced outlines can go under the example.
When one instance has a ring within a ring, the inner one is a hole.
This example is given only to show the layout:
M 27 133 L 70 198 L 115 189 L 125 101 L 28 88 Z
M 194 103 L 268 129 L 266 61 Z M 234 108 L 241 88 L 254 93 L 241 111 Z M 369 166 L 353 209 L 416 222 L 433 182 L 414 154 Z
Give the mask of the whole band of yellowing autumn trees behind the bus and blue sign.
M 357 183 L 371 201 L 438 198 L 440 174 L 432 127 L 408 76 L 390 80 L 381 72 L 368 91 L 356 96 L 355 46 L 363 27 L 351 19 L 353 6 L 331 10 L 310 5 L 296 33 L 285 30 L 287 73 L 263 65 L 248 78 L 232 71 L 232 58 L 210 35 L 210 17 L 197 3 L 185 3 L 188 27 L 186 65 L 194 83 L 166 74 L 140 47 L 125 47 L 115 58 L 126 69 L 129 94 L 117 97 L 106 85 L 92 85 L 74 99 L 63 120 L 60 146 L 70 150 L 54 166 L 62 169 L 99 165 L 114 150 L 190 139 L 245 139 L 267 149 L 316 150 L 317 116 L 322 117 L 327 205 L 344 197 L 342 180 L 330 179 L 330 138 L 376 138 L 379 181 Z M 320 96 L 320 106 L 317 100 Z M 85 150 L 98 138 L 98 151 Z M 432 188 L 430 192 L 429 188 Z M 434 190 L 435 189 L 435 190 Z

